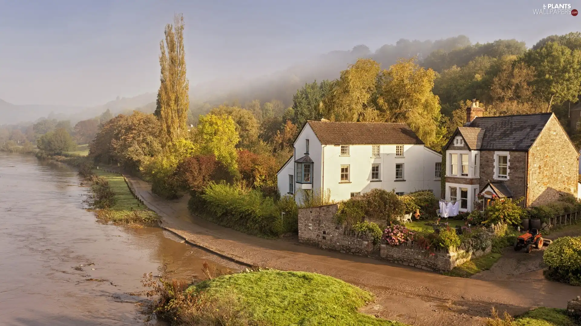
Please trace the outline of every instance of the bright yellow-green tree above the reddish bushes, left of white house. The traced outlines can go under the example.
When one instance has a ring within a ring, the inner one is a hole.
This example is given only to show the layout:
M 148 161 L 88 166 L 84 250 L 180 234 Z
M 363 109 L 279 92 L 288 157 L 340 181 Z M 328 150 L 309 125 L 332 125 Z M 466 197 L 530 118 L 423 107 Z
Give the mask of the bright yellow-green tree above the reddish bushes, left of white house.
M 240 140 L 234 120 L 227 114 L 200 117 L 195 135 L 199 153 L 213 154 L 228 168 L 236 168 L 236 144 Z

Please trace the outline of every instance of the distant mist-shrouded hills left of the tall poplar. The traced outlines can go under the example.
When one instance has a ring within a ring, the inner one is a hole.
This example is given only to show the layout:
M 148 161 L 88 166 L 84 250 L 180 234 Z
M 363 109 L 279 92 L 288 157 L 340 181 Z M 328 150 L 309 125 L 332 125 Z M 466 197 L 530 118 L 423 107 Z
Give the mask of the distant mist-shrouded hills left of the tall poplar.
M 155 110 L 156 93 L 145 93 L 134 97 L 121 97 L 106 104 L 94 107 L 58 106 L 42 104 L 12 104 L 0 99 L 0 125 L 34 122 L 41 118 L 77 121 L 96 117 L 107 109 L 114 115 L 131 112 Z M 153 103 L 153 109 L 150 108 Z M 149 104 L 149 106 L 148 106 Z M 149 113 L 149 112 L 148 112 Z

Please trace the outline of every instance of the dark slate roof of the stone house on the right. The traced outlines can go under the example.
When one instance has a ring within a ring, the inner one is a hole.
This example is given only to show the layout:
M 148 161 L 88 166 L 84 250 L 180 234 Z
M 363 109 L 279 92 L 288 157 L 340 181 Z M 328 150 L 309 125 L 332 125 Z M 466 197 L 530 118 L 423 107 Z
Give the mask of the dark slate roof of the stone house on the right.
M 528 151 L 552 113 L 476 117 L 458 131 L 472 150 Z

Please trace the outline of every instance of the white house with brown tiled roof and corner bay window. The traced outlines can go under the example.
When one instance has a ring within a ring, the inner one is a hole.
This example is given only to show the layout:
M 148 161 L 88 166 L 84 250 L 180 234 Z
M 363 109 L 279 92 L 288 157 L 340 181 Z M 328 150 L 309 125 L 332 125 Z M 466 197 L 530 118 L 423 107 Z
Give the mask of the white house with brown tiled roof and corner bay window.
M 382 188 L 400 195 L 432 190 L 440 197 L 442 155 L 406 124 L 307 121 L 294 147 L 277 174 L 281 195 L 330 189 L 331 200 L 339 201 Z

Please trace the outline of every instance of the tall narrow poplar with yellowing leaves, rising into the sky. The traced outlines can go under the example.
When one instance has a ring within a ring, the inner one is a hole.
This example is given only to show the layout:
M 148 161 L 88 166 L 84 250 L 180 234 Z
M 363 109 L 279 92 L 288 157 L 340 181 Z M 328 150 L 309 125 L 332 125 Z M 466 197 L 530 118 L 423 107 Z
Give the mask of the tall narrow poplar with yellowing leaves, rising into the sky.
M 184 51 L 184 16 L 175 15 L 174 25 L 166 26 L 166 44 L 159 47 L 162 68 L 159 88 L 159 117 L 168 142 L 175 142 L 187 132 L 189 81 L 186 78 Z

